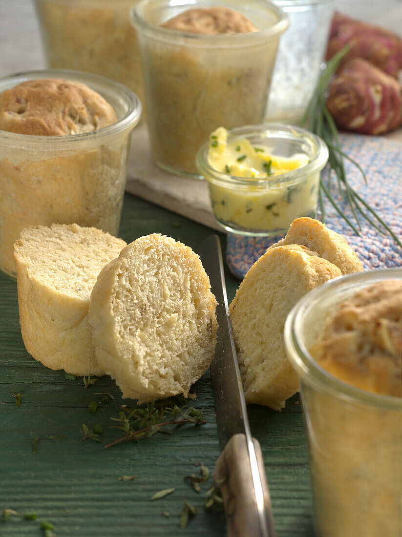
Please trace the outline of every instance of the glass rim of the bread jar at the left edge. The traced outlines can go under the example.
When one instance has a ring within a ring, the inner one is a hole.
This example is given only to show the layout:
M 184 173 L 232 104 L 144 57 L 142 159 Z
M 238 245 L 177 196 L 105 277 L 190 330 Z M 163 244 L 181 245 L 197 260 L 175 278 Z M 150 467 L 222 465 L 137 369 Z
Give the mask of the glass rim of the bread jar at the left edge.
M 58 146 L 60 149 L 71 149 L 77 144 L 82 146 L 85 143 L 94 143 L 94 141 L 102 140 L 105 137 L 113 137 L 114 135 L 120 135 L 126 130 L 131 130 L 138 124 L 142 105 L 139 97 L 131 91 L 127 86 L 120 84 L 111 78 L 105 76 L 95 75 L 84 71 L 75 71 L 71 69 L 39 69 L 34 71 L 23 71 L 13 75 L 6 75 L 0 77 L 0 93 L 6 89 L 11 89 L 21 82 L 28 80 L 35 80 L 39 78 L 64 78 L 71 82 L 81 82 L 90 85 L 91 82 L 98 82 L 108 86 L 110 89 L 115 90 L 121 99 L 124 99 L 127 104 L 127 112 L 123 118 L 119 119 L 116 123 L 103 127 L 102 129 L 92 130 L 87 133 L 79 134 L 66 134 L 61 136 L 38 136 L 32 134 L 20 134 L 13 133 L 7 130 L 0 130 L 2 137 L 2 144 L 10 144 L 10 146 L 22 145 L 27 148 L 34 149 L 40 146 L 41 150 L 46 150 L 47 144 L 49 144 L 49 150 L 55 150 Z M 15 82 L 15 84 L 13 84 Z M 12 84 L 12 85 L 10 85 Z M 4 86 L 8 86 L 4 88 Z

